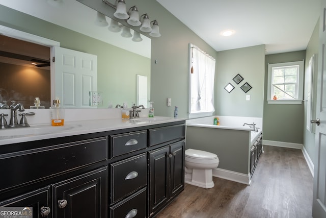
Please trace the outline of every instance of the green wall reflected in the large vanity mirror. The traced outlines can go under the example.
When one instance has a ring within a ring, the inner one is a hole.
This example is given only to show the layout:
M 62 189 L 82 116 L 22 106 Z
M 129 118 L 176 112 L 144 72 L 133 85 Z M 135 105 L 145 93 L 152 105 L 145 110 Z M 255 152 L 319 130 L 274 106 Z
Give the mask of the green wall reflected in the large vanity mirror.
M 0 5 L 0 25 L 60 42 L 61 47 L 97 55 L 98 89 L 103 107 L 136 102 L 136 75 L 148 77 L 150 59 Z

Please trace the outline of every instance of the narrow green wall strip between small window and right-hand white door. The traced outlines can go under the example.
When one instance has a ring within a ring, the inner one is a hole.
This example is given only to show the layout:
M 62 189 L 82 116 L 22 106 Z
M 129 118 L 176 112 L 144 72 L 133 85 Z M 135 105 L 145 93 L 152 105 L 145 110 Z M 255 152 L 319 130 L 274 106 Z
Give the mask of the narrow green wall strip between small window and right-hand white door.
M 312 36 L 309 40 L 307 50 L 306 50 L 306 62 L 305 65 L 307 66 L 309 63 L 309 59 L 313 54 L 318 54 L 318 46 L 319 46 L 319 21 L 316 23 L 315 29 L 312 33 Z M 316 58 L 316 65 L 315 67 L 318 67 L 318 55 L 315 56 Z M 314 71 L 313 78 L 316 81 L 317 80 L 317 71 Z M 313 105 L 316 105 L 316 91 L 317 91 L 317 84 L 315 83 L 313 86 L 313 92 L 315 98 L 313 98 Z M 307 90 L 305 90 L 305 95 L 307 96 Z M 307 103 L 304 104 L 304 110 L 305 110 L 305 117 L 307 117 Z M 316 110 L 316 108 L 314 109 Z M 306 118 L 304 119 L 304 126 L 303 126 L 303 144 L 304 147 L 309 154 L 311 160 L 313 163 L 315 163 L 315 134 L 311 133 L 307 130 L 306 125 Z

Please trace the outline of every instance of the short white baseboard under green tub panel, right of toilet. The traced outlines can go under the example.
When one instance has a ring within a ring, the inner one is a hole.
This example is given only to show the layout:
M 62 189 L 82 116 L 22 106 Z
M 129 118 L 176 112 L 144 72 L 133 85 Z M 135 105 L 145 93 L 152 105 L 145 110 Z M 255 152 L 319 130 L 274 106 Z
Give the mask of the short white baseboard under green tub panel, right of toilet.
M 215 168 L 213 169 L 213 176 L 221 179 L 227 179 L 234 182 L 250 185 L 250 174 L 242 174 L 234 171 L 228 171 L 226 169 Z

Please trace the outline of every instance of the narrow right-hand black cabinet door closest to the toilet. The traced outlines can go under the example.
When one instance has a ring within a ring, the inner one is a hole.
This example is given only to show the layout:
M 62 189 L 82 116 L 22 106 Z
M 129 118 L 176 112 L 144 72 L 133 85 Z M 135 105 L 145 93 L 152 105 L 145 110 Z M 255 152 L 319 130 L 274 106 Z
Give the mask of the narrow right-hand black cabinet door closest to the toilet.
M 171 144 L 171 198 L 184 189 L 184 141 Z

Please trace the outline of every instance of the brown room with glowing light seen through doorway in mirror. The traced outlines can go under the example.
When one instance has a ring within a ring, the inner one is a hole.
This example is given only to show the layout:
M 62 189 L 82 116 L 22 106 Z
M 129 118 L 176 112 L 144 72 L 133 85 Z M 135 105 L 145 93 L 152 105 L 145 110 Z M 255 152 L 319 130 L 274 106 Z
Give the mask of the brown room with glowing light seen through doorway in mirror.
M 0 35 L 0 103 L 50 107 L 50 47 Z

